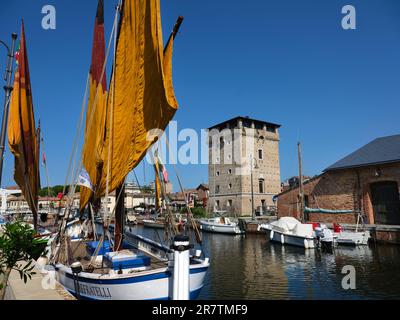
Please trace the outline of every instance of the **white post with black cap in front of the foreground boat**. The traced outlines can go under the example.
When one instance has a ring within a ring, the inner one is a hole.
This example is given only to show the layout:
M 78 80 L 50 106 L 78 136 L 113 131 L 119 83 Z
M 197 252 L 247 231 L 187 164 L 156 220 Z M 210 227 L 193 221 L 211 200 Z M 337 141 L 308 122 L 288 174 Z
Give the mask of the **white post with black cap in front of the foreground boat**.
M 173 275 L 173 300 L 189 300 L 190 298 L 190 258 L 189 237 L 177 235 L 174 238 L 174 275 Z

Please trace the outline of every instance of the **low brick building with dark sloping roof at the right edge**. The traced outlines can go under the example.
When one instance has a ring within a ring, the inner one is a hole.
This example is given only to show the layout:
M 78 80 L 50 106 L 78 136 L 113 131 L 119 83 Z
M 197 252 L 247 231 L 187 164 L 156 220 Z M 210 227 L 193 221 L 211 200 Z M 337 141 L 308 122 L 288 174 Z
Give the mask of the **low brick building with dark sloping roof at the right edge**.
M 400 135 L 375 139 L 304 183 L 305 206 L 352 213 L 308 213 L 312 222 L 400 224 Z M 278 216 L 299 215 L 299 188 L 278 195 Z

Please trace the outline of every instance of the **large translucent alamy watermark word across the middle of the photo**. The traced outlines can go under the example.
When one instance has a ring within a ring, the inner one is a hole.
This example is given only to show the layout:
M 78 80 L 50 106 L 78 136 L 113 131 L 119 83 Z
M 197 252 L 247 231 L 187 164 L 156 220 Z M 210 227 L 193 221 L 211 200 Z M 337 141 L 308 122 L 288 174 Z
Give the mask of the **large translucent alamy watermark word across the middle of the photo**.
M 185 128 L 178 131 L 178 123 L 171 121 L 168 132 L 160 129 L 148 132 L 147 140 L 158 142 L 147 154 L 146 160 L 154 164 L 153 155 L 157 149 L 165 164 L 232 165 L 236 175 L 249 175 L 255 153 L 264 152 L 263 145 L 267 141 L 265 135 L 275 137 L 275 134 L 247 127 L 201 129 L 200 132 Z

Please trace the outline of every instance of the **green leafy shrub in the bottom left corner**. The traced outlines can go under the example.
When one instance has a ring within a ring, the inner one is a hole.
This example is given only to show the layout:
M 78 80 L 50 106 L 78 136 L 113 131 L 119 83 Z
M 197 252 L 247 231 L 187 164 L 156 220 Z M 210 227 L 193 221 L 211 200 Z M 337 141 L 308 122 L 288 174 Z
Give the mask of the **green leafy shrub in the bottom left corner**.
M 0 300 L 4 300 L 11 271 L 18 271 L 26 283 L 35 274 L 33 260 L 38 259 L 47 246 L 47 240 L 35 238 L 35 230 L 22 221 L 8 223 L 3 229 L 0 236 Z

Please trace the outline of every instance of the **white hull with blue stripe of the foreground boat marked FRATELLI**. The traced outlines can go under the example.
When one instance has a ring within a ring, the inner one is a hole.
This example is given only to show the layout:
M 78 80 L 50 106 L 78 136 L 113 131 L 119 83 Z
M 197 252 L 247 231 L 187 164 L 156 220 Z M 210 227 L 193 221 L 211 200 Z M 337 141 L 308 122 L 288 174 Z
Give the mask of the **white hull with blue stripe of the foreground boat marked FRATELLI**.
M 196 299 L 204 285 L 209 263 L 190 267 L 190 299 Z M 57 281 L 73 295 L 74 276 L 70 268 L 58 264 Z M 125 275 L 82 272 L 77 277 L 79 299 L 89 300 L 169 300 L 172 298 L 173 270 L 166 268 Z

